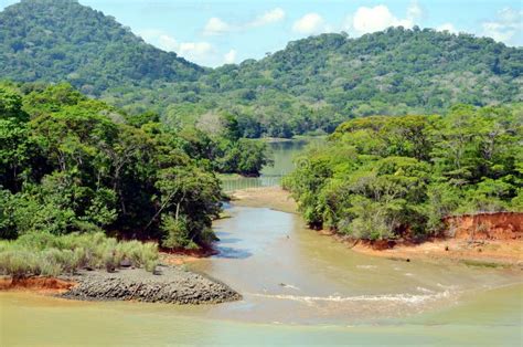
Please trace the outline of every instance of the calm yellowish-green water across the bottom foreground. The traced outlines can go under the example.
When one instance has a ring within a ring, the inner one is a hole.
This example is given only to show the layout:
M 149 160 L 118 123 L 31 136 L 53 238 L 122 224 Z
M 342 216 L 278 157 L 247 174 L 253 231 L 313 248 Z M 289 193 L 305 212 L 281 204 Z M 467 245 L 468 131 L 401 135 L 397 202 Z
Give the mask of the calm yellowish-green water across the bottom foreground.
M 521 346 L 521 285 L 451 309 L 382 325 L 280 325 L 184 316 L 158 304 L 81 303 L 0 295 L 2 346 L 439 345 Z

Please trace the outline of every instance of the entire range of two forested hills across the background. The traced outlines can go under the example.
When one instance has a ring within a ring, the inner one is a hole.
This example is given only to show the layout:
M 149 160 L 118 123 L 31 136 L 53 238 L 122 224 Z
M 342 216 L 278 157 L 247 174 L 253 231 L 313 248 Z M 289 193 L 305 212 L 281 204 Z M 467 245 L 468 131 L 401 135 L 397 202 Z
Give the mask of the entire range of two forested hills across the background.
M 332 132 L 351 117 L 523 101 L 523 49 L 430 29 L 321 34 L 259 61 L 204 69 L 72 0 L 0 12 L 0 77 L 68 81 L 131 113 L 198 123 L 231 113 L 245 136 Z

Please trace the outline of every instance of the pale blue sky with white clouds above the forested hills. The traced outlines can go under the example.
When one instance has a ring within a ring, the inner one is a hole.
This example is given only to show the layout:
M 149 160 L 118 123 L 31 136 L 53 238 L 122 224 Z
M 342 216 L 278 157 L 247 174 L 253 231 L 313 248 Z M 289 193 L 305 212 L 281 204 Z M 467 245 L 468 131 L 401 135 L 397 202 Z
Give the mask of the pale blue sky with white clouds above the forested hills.
M 15 3 L 0 0 L 0 9 Z M 522 0 L 79 0 L 145 41 L 204 66 L 241 63 L 324 32 L 352 38 L 403 25 L 523 44 Z

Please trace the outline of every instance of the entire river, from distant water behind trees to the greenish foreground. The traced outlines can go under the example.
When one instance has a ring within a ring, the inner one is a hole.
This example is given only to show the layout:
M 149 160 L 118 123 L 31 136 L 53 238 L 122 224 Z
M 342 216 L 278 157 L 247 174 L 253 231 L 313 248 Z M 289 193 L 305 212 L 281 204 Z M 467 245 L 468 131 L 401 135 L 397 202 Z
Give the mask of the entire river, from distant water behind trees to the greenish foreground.
M 275 167 L 256 185 L 277 183 L 271 177 L 291 169 L 303 144 L 273 144 Z M 520 270 L 371 257 L 308 230 L 297 214 L 226 209 L 231 218 L 214 225 L 220 254 L 190 266 L 243 301 L 172 306 L 1 293 L 0 345 L 522 343 Z

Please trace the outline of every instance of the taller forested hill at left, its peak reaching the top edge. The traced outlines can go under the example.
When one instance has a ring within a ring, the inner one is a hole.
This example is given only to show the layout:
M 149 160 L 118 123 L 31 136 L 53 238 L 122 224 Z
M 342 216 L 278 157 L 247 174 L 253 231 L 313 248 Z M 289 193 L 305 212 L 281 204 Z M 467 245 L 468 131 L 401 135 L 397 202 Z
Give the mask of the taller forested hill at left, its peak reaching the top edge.
M 0 76 L 67 81 L 98 95 L 120 85 L 194 80 L 203 69 L 73 0 L 23 0 L 0 12 Z

